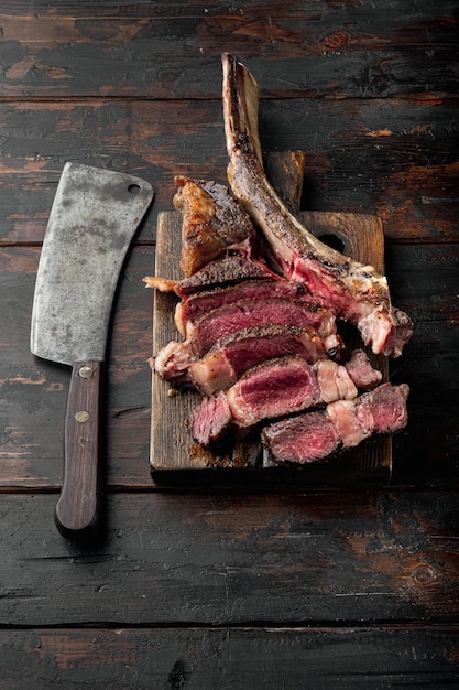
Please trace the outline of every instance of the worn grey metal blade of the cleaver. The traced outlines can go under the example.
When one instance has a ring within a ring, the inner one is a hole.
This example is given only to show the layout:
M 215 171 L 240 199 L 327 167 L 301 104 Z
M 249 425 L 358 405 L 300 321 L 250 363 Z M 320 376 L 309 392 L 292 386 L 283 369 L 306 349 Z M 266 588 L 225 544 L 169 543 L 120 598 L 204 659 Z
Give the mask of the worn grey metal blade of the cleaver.
M 119 273 L 153 194 L 140 177 L 65 164 L 36 277 L 33 354 L 103 360 Z

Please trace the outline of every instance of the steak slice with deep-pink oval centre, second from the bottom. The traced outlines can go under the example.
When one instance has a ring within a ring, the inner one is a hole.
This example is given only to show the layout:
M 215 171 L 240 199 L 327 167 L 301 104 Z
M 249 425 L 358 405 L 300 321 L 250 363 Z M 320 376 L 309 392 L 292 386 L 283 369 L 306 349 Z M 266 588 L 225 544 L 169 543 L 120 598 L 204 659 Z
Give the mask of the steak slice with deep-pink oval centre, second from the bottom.
M 346 367 L 331 359 L 308 365 L 302 357 L 280 357 L 252 367 L 226 392 L 204 398 L 192 416 L 193 435 L 209 445 L 229 428 L 247 431 L 264 419 L 357 395 Z

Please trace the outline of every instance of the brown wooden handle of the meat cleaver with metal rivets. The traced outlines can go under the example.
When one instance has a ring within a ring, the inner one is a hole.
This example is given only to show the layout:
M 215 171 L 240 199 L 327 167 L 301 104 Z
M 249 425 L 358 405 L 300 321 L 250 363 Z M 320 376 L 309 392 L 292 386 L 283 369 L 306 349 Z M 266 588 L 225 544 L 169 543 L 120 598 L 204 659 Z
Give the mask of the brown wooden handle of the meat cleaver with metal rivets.
M 64 433 L 64 473 L 55 521 L 67 539 L 99 531 L 101 504 L 100 411 L 102 362 L 76 362 Z

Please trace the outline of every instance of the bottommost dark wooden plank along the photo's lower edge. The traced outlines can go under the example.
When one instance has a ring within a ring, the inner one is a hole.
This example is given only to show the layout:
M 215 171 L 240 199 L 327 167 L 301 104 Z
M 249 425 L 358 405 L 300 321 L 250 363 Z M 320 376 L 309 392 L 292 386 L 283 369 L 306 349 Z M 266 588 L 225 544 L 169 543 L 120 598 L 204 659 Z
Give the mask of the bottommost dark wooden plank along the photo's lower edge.
M 1 690 L 452 687 L 456 627 L 1 630 Z

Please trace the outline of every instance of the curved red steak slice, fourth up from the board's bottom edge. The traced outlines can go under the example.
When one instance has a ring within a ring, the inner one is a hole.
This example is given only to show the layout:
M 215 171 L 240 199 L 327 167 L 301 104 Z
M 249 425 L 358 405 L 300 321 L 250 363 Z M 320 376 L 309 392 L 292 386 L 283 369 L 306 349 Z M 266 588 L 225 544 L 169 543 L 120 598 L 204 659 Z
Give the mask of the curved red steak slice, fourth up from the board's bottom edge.
M 197 354 L 203 357 L 217 341 L 231 333 L 266 324 L 310 327 L 317 331 L 326 352 L 336 353 L 341 347 L 335 314 L 330 310 L 285 298 L 239 300 L 214 309 L 187 322 L 186 338 L 194 342 Z

